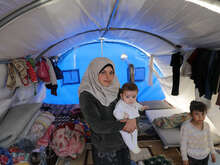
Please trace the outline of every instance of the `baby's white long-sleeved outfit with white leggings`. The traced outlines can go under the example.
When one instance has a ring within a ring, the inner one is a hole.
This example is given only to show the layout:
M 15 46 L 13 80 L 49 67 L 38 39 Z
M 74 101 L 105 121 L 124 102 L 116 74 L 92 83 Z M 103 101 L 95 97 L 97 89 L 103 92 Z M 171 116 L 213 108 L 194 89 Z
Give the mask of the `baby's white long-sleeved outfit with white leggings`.
M 117 120 L 121 120 L 125 118 L 125 113 L 128 114 L 129 119 L 134 119 L 139 117 L 139 110 L 141 110 L 141 107 L 143 105 L 135 102 L 133 104 L 127 104 L 123 100 L 119 100 L 116 104 L 115 110 L 113 112 L 115 118 Z M 141 149 L 138 147 L 137 144 L 137 129 L 134 130 L 132 133 L 128 133 L 125 131 L 120 131 L 122 138 L 125 142 L 125 144 L 128 146 L 129 150 L 131 150 L 133 153 L 137 154 L 141 151 Z

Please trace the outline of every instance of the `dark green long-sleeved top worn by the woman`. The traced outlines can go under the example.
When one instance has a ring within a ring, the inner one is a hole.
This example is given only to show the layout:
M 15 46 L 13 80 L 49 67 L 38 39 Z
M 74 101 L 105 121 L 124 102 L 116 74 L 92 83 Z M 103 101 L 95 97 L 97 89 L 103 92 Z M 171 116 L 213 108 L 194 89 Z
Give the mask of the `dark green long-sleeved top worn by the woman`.
M 119 132 L 125 123 L 117 121 L 113 116 L 117 101 L 106 107 L 89 92 L 80 94 L 80 110 L 91 128 L 91 142 L 99 151 L 108 152 L 125 147 Z

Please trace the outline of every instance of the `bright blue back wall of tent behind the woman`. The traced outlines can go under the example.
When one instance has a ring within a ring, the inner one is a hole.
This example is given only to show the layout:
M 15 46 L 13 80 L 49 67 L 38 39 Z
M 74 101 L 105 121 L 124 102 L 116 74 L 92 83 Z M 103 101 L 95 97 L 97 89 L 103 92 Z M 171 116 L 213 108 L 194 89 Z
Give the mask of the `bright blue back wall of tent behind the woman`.
M 74 54 L 76 55 L 74 59 Z M 122 60 L 121 55 L 126 54 L 127 60 Z M 71 81 L 77 81 L 73 84 L 65 84 L 63 80 L 58 80 L 57 96 L 50 94 L 47 90 L 45 103 L 49 104 L 78 104 L 78 88 L 83 74 L 85 73 L 89 63 L 96 57 L 101 56 L 101 46 L 99 43 L 89 44 L 73 51 L 68 51 L 68 54 L 64 54 L 65 58 L 58 63 L 61 70 L 75 70 L 78 69 L 80 80 L 73 79 Z M 134 65 L 137 70 L 136 78 L 143 81 L 135 81 L 139 88 L 138 101 L 150 101 L 150 100 L 163 100 L 165 98 L 160 84 L 155 75 L 153 75 L 153 86 L 148 85 L 148 64 L 149 57 L 137 48 L 131 47 L 125 44 L 119 43 L 103 43 L 103 56 L 111 59 L 115 64 L 115 73 L 120 81 L 120 84 L 124 84 L 128 81 L 127 68 L 128 64 Z M 157 68 L 156 68 L 157 69 Z M 142 70 L 142 71 L 141 71 Z M 143 75 L 144 70 L 144 75 Z M 76 77 L 75 77 L 76 78 Z

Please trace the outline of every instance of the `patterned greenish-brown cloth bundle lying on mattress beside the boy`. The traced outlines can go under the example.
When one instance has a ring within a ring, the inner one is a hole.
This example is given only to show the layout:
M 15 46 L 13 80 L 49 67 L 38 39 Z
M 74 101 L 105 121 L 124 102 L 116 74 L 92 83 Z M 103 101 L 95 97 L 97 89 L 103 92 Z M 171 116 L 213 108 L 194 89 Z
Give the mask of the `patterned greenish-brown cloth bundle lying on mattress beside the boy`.
M 180 127 L 181 124 L 190 119 L 188 112 L 174 114 L 168 117 L 159 117 L 153 120 L 153 123 L 159 128 L 176 128 Z

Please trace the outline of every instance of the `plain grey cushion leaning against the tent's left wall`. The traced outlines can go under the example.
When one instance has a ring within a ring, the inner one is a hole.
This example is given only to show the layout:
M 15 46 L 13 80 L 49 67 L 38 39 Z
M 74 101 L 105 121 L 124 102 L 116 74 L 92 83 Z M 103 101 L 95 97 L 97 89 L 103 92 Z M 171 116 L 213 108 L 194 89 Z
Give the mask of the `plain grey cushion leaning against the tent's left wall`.
M 27 123 L 40 110 L 40 107 L 40 103 L 34 103 L 22 104 L 10 108 L 7 116 L 5 116 L 0 124 L 0 146 L 7 148 L 13 144 Z

